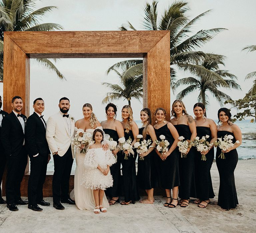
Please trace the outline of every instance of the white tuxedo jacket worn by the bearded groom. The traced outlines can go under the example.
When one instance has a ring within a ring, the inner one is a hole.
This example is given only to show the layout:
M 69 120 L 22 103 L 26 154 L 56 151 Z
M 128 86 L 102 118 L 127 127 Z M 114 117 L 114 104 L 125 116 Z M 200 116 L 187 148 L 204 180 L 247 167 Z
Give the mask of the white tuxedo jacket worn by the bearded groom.
M 71 121 L 71 134 L 69 135 L 68 125 L 66 119 L 58 112 L 50 116 L 47 120 L 46 126 L 46 140 L 52 153 L 58 151 L 58 155 L 63 156 L 74 137 L 75 119 L 69 115 Z M 73 119 L 71 119 L 73 118 Z M 72 148 L 72 156 L 75 157 L 74 149 Z

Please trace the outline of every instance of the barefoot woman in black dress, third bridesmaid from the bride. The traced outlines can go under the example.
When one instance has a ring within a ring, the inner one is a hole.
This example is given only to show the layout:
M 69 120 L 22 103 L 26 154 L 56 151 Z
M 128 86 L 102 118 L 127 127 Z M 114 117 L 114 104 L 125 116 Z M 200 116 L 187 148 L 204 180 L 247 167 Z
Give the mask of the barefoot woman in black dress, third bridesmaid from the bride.
M 154 188 L 156 186 L 156 171 L 154 169 L 154 147 L 156 146 L 156 134 L 153 126 L 151 125 L 151 111 L 148 108 L 144 108 L 140 112 L 140 119 L 143 123 L 142 127 L 139 128 L 139 134 L 143 135 L 143 140 L 151 138 L 151 145 L 147 152 L 140 154 L 139 157 L 143 157 L 144 160 L 138 159 L 138 187 L 145 189 L 148 197 L 140 200 L 140 203 L 154 203 Z

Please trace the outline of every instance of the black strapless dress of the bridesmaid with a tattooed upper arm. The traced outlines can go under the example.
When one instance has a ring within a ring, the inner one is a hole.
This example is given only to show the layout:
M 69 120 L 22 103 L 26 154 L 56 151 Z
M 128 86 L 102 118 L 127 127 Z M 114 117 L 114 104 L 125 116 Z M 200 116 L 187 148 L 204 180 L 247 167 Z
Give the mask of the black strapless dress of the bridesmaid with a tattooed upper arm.
M 183 136 L 184 140 L 190 140 L 191 131 L 186 124 L 176 124 L 174 127 L 177 129 L 179 136 Z M 183 140 L 183 141 L 184 141 Z M 189 200 L 190 197 L 196 197 L 196 184 L 195 184 L 195 148 L 192 147 L 187 154 L 187 157 L 181 157 L 179 152 L 179 174 L 180 186 L 179 197 L 181 199 Z

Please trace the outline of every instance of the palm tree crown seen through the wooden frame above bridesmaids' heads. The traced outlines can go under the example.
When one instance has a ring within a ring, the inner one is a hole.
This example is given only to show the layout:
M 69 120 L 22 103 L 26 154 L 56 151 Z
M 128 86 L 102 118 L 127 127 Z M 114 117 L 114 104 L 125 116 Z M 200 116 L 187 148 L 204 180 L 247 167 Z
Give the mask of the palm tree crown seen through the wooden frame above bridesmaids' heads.
M 128 69 L 128 66 L 126 68 Z M 124 98 L 128 101 L 128 105 L 131 106 L 131 98 L 139 100 L 143 96 L 142 75 L 136 75 L 132 78 L 127 77 L 127 69 L 122 69 L 120 72 L 116 69 L 112 69 L 112 71 L 119 76 L 121 86 L 118 84 L 102 83 L 102 85 L 105 85 L 113 91 L 107 93 L 102 104 Z M 109 72 L 107 72 L 107 74 L 109 74 Z

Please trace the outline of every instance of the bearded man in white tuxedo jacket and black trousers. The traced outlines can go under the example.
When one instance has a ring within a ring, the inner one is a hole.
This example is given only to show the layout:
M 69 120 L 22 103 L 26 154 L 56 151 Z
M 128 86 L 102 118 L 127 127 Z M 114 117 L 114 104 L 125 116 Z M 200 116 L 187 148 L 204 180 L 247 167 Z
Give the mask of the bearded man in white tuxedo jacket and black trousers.
M 75 130 L 75 119 L 68 115 L 69 99 L 63 97 L 59 101 L 60 112 L 50 116 L 47 121 L 46 139 L 53 153 L 54 174 L 52 180 L 53 207 L 65 209 L 61 203 L 74 205 L 69 198 L 69 177 L 74 160 L 71 140 Z

